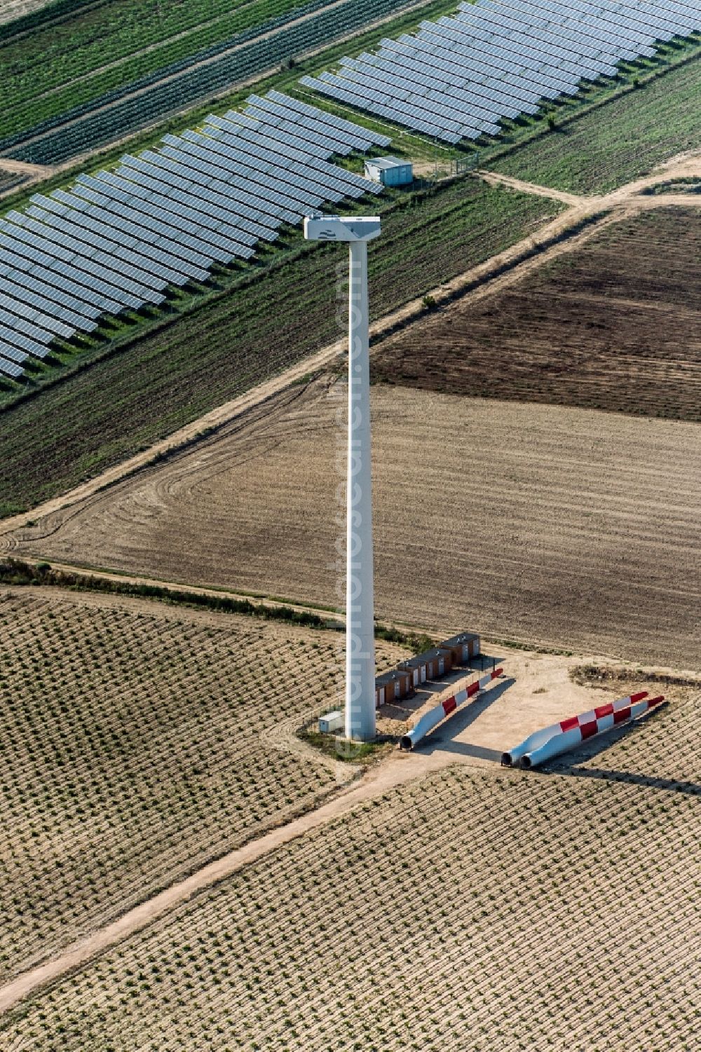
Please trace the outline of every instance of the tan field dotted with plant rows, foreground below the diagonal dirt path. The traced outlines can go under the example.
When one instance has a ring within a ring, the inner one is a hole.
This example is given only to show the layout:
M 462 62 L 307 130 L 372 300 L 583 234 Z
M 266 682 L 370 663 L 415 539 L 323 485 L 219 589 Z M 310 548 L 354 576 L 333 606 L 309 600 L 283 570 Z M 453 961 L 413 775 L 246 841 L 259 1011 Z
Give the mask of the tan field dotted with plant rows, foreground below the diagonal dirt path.
M 22 1052 L 693 1052 L 700 818 L 683 792 L 454 766 L 276 850 L 0 1030 Z

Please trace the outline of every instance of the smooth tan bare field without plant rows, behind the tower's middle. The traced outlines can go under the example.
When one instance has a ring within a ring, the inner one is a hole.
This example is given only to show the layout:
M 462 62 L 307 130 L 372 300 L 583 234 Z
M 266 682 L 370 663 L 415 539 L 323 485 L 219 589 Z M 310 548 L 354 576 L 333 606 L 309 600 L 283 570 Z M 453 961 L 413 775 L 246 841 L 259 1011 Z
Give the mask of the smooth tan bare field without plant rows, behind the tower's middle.
M 344 399 L 292 387 L 5 544 L 336 605 Z M 373 429 L 378 616 L 701 668 L 697 425 L 377 385 Z

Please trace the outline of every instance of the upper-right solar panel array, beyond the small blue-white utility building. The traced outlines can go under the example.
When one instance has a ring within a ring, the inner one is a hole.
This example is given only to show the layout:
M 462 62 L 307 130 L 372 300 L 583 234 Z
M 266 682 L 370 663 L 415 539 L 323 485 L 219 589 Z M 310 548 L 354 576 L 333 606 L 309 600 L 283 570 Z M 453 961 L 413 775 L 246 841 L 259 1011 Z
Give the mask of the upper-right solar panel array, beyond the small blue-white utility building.
M 477 0 L 301 83 L 455 144 L 700 27 L 694 0 Z

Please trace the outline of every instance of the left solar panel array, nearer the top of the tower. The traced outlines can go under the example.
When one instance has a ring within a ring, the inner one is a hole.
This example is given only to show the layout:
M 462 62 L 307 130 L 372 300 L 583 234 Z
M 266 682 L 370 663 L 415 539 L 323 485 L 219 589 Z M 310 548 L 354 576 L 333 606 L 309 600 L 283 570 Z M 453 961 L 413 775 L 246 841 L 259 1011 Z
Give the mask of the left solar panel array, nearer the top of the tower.
M 284 223 L 378 194 L 333 156 L 386 146 L 368 132 L 279 92 L 200 132 L 165 136 L 115 171 L 35 194 L 0 219 L 0 375 L 18 378 L 56 338 L 93 332 L 103 315 L 157 306 L 168 287 L 204 281 L 272 243 Z

